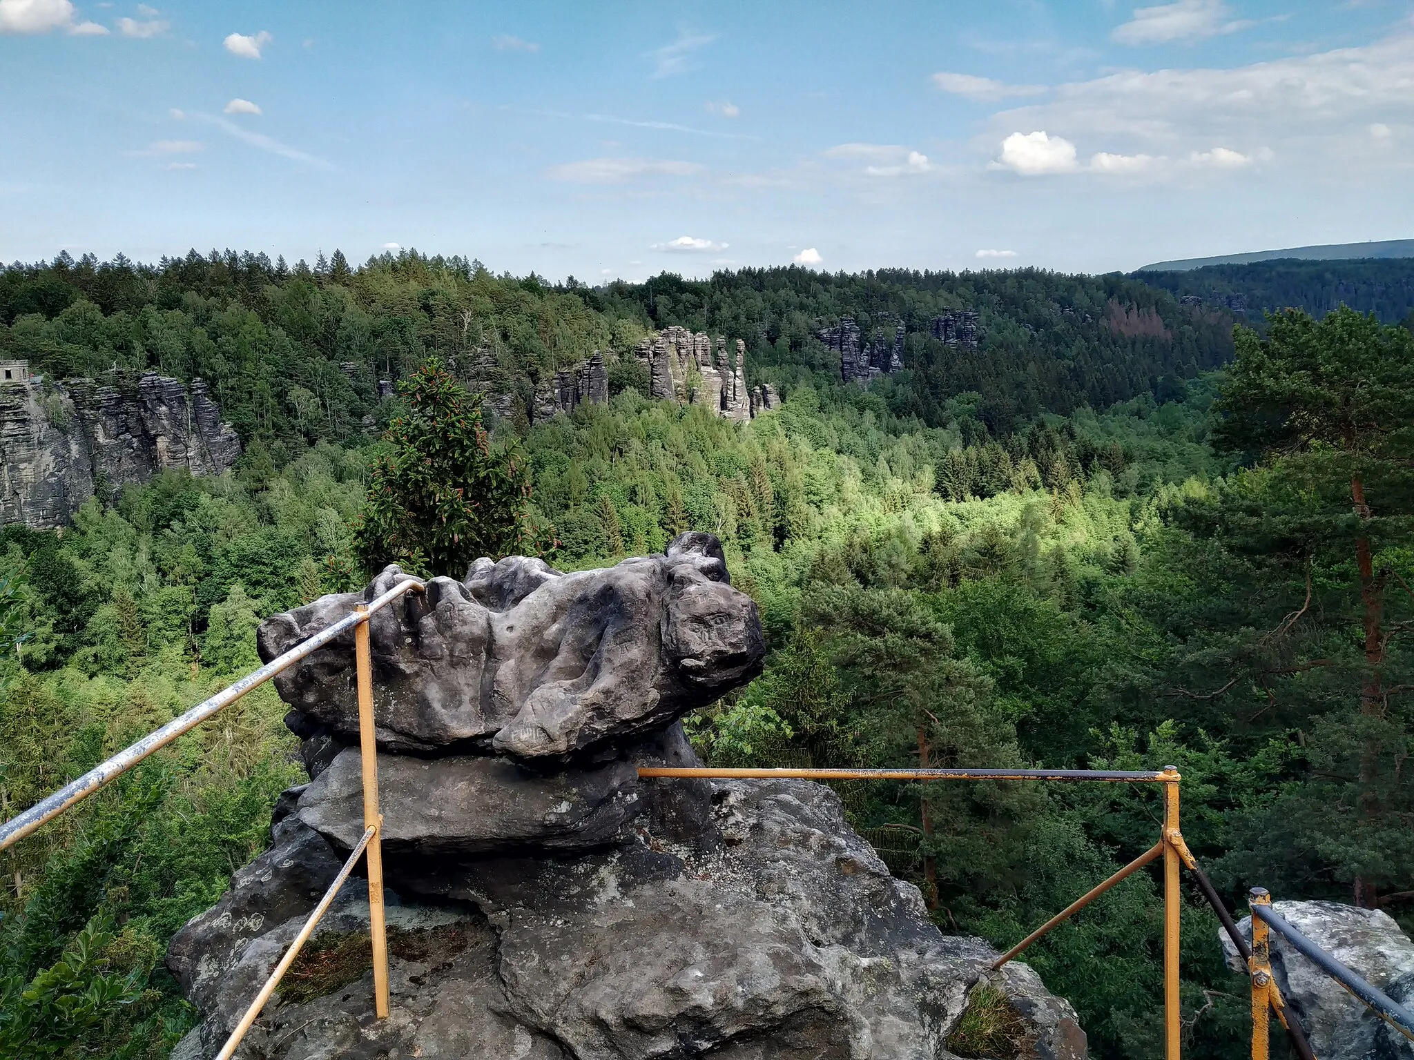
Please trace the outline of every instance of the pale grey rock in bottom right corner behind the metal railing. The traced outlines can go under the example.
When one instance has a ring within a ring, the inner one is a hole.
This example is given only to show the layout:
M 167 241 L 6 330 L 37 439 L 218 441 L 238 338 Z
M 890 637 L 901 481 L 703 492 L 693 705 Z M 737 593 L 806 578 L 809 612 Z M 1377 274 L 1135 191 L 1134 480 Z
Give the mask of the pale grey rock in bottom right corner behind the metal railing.
M 1401 1003 L 1414 1001 L 1414 943 L 1394 919 L 1377 909 L 1339 902 L 1273 902 L 1273 912 L 1307 938 Z M 1237 929 L 1251 940 L 1251 917 Z M 1271 971 L 1282 996 L 1295 1009 L 1321 1060 L 1407 1060 L 1408 1039 L 1356 1001 L 1340 984 L 1271 931 Z M 1246 974 L 1226 933 L 1219 933 L 1233 971 Z

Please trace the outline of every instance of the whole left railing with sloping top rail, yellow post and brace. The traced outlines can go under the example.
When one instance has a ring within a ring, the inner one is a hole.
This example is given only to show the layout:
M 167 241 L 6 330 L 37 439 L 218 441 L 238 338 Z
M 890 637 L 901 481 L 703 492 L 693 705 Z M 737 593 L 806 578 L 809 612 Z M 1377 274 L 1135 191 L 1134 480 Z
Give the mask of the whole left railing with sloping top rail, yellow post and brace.
M 372 615 L 382 611 L 393 601 L 400 599 L 407 592 L 421 592 L 423 588 L 424 585 L 420 579 L 407 578 L 372 602 L 359 603 L 349 615 L 339 619 L 334 625 L 321 629 L 318 633 L 300 642 L 277 659 L 271 659 L 255 673 L 242 677 L 239 681 L 216 693 L 209 700 L 204 700 L 189 711 L 163 725 L 160 729 L 143 736 L 143 739 L 137 741 L 130 748 L 120 750 L 107 762 L 95 766 L 78 780 L 65 784 L 48 799 L 35 803 L 18 817 L 14 817 L 0 825 L 0 851 L 3 851 L 23 840 L 45 821 L 51 821 L 66 810 L 72 810 L 100 787 L 120 777 L 144 758 L 167 746 L 182 734 L 197 728 L 201 722 L 229 707 L 253 688 L 259 688 L 276 674 L 288 670 L 301 659 L 305 659 L 325 644 L 332 643 L 348 630 L 354 630 L 359 753 L 363 759 L 363 837 L 358 841 L 358 844 L 355 844 L 354 851 L 349 854 L 344 866 L 334 878 L 334 882 L 329 883 L 328 889 L 324 892 L 324 897 L 320 899 L 314 912 L 305 919 L 304 926 L 300 929 L 300 934 L 296 936 L 290 948 L 286 950 L 284 957 L 280 958 L 274 971 L 270 972 L 255 1001 L 250 1002 L 250 1006 L 240 1018 L 240 1022 L 236 1023 L 235 1030 L 230 1032 L 225 1046 L 222 1046 L 221 1052 L 216 1054 L 216 1060 L 230 1060 L 236 1047 L 240 1044 L 240 1040 L 246 1036 L 246 1032 L 250 1030 L 266 1002 L 270 1001 L 270 995 L 274 994 L 276 987 L 280 985 L 280 979 L 290 970 L 290 965 L 294 964 L 294 958 L 300 955 L 300 950 L 310 940 L 310 936 L 314 934 L 314 929 L 318 926 L 320 919 L 328 912 L 334 897 L 339 893 L 339 888 L 344 886 L 344 882 L 349 878 L 349 873 L 354 871 L 354 866 L 358 864 L 361 856 L 368 858 L 368 920 L 369 936 L 372 937 L 373 946 L 373 1009 L 379 1019 L 387 1018 L 387 931 L 383 916 L 383 845 L 380 841 L 383 815 L 378 810 L 378 743 L 373 735 L 373 663 L 369 649 L 368 622 Z

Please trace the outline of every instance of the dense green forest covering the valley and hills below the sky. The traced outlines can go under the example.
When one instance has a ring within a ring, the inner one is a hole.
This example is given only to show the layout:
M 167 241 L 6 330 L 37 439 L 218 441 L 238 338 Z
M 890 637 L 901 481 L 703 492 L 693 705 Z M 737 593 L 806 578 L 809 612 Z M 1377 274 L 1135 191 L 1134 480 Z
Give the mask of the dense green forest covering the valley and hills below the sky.
M 980 312 L 976 351 L 926 336 L 950 308 Z M 840 315 L 904 322 L 908 367 L 841 386 L 814 335 Z M 785 404 L 734 424 L 648 400 L 618 355 L 669 324 L 745 339 L 748 382 Z M 1121 277 L 785 269 L 588 288 L 414 253 L 6 269 L 0 355 L 201 376 L 246 452 L 219 478 L 93 500 L 59 533 L 3 531 L 0 814 L 250 669 L 262 616 L 362 582 L 366 489 L 409 437 L 366 430 L 406 423 L 378 379 L 437 358 L 472 386 L 489 356 L 533 382 L 594 349 L 612 358 L 607 406 L 486 423 L 525 468 L 522 540 L 561 568 L 721 537 L 771 656 L 689 719 L 704 758 L 1174 763 L 1188 842 L 1234 907 L 1260 883 L 1414 923 L 1411 336 L 1295 314 L 1234 348 L 1230 315 Z M 1331 410 L 1366 400 L 1363 432 L 1342 434 Z M 1298 401 L 1319 430 L 1278 430 Z M 167 1054 L 192 1015 L 161 954 L 269 840 L 300 772 L 280 717 L 263 690 L 0 855 L 0 1054 Z M 998 946 L 1157 827 L 1151 794 L 1109 786 L 840 793 L 942 930 Z M 1097 1057 L 1161 1050 L 1158 892 L 1140 873 L 1032 951 Z M 1196 893 L 1184 977 L 1188 1054 L 1246 1056 L 1247 987 Z

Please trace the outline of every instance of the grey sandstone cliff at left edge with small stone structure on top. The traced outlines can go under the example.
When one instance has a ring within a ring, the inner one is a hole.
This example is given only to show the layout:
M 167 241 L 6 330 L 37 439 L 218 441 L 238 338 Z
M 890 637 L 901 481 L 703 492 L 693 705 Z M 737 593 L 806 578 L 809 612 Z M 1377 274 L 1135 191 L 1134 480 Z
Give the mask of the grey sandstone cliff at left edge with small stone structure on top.
M 7 362 L 23 365 L 23 362 Z M 16 372 L 16 369 L 11 369 Z M 240 440 L 206 396 L 156 372 L 47 383 L 0 383 L 0 520 L 65 526 L 96 490 L 146 482 L 173 468 L 218 475 Z

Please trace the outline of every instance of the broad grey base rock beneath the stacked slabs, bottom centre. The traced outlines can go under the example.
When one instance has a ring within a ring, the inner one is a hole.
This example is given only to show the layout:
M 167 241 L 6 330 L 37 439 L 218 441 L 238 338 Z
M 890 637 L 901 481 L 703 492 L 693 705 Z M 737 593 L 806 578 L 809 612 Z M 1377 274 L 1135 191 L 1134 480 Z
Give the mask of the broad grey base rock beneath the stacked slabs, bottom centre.
M 392 1016 L 373 1019 L 362 972 L 267 1008 L 238 1056 L 939 1060 L 981 981 L 1022 1016 L 1024 1056 L 1086 1054 L 1070 1006 L 1022 964 L 991 972 L 981 940 L 940 934 L 831 790 L 715 783 L 711 835 L 689 837 L 653 824 L 677 783 L 645 782 L 625 841 L 574 858 L 390 854 Z M 279 881 L 284 859 L 271 851 L 247 872 Z M 184 954 L 209 946 L 192 1056 L 219 1047 L 298 930 L 297 916 L 270 919 L 232 946 L 233 895 L 178 936 Z M 365 900 L 354 886 L 315 944 L 366 930 Z

